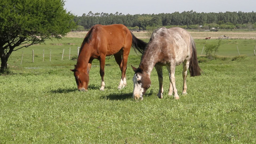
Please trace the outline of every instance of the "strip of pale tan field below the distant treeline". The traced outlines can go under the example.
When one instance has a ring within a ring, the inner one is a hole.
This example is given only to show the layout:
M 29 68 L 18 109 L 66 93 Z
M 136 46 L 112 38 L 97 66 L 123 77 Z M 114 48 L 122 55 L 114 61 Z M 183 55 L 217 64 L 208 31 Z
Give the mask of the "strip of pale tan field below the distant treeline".
M 211 37 L 212 39 L 218 39 L 218 36 L 229 36 L 229 39 L 256 39 L 256 31 L 218 31 L 218 32 L 199 32 L 189 31 L 194 39 L 205 39 L 205 37 Z M 66 37 L 85 37 L 87 32 L 70 32 Z M 138 38 L 147 39 L 151 36 L 150 32 L 133 32 Z

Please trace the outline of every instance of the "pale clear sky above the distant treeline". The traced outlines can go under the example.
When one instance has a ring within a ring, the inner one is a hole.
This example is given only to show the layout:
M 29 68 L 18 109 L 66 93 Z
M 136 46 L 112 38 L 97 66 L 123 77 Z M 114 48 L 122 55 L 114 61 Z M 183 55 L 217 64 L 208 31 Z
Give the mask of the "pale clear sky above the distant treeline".
M 122 14 L 173 12 L 256 12 L 256 0 L 66 0 L 64 8 L 77 16 L 92 11 Z

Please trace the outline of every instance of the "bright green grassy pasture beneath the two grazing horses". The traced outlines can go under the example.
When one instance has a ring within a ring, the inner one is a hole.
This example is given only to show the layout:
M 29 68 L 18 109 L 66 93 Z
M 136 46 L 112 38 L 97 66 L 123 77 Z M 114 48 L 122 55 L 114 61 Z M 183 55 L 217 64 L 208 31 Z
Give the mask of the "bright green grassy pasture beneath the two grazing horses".
M 141 57 L 133 49 L 125 88 L 117 89 L 121 71 L 110 57 L 105 67 L 105 90 L 99 91 L 99 62 L 94 60 L 88 92 L 78 92 L 69 70 L 76 64 L 82 41 L 64 37 L 12 53 L 10 73 L 0 75 L 0 144 L 256 143 L 255 39 L 222 40 L 216 60 L 208 60 L 201 51 L 206 43 L 219 40 L 195 39 L 203 74 L 188 76 L 188 94 L 181 95 L 182 66 L 177 66 L 180 100 L 168 96 L 169 78 L 163 69 L 164 98 L 156 96 L 158 77 L 153 70 L 143 101 L 132 98 L 134 72 L 130 65 L 137 67 Z M 74 60 L 68 58 L 69 48 Z

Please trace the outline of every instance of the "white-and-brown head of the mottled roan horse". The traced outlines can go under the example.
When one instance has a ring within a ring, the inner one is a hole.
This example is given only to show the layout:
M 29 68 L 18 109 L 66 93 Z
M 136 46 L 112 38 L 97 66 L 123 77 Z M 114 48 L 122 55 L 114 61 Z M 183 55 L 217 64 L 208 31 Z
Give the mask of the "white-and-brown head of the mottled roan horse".
M 143 68 L 136 69 L 133 67 L 134 70 L 134 92 L 133 98 L 136 99 L 143 99 L 143 95 L 146 93 L 146 90 L 150 87 L 151 81 L 150 77 L 146 72 L 143 72 Z

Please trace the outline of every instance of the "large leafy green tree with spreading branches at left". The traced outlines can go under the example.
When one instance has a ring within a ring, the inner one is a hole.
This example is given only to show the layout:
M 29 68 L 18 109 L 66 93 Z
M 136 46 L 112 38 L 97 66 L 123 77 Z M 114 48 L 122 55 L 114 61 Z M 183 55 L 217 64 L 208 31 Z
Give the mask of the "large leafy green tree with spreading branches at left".
M 0 72 L 13 51 L 65 36 L 75 27 L 63 0 L 0 0 Z

